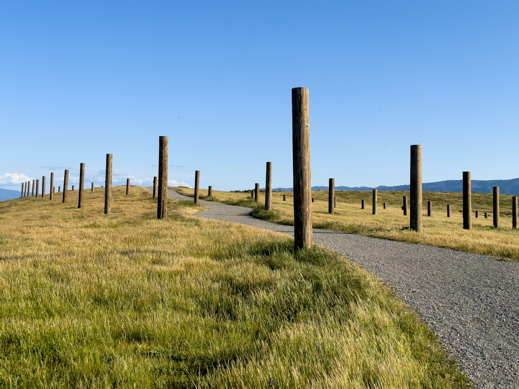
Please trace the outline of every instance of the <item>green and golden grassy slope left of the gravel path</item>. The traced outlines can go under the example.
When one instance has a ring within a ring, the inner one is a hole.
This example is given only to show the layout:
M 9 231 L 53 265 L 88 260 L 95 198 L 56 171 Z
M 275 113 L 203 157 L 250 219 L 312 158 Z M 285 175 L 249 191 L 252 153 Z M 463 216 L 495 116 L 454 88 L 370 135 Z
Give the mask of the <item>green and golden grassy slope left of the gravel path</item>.
M 438 339 L 344 257 L 145 189 L 0 203 L 0 386 L 461 388 Z M 277 198 L 277 197 L 276 197 Z M 278 203 L 276 202 L 276 206 Z M 272 377 L 274 383 L 268 384 Z

